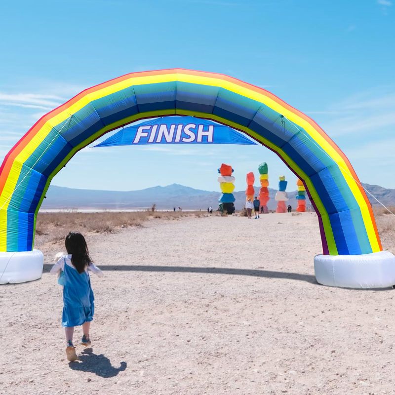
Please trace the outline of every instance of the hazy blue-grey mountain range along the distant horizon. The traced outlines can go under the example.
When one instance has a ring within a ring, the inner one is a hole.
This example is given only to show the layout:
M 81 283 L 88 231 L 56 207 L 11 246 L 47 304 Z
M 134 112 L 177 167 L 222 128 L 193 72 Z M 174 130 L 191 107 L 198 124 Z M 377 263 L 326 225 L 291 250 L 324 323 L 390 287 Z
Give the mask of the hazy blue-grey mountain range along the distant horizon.
M 378 185 L 362 184 L 385 205 L 395 205 L 395 189 L 386 189 Z M 288 192 L 288 191 L 287 191 Z M 259 188 L 255 188 L 256 195 Z M 269 188 L 269 209 L 276 208 L 276 190 Z M 288 192 L 288 204 L 297 206 L 296 191 Z M 235 206 L 239 210 L 245 204 L 244 191 L 234 192 Z M 139 191 L 119 192 L 87 189 L 72 189 L 51 185 L 41 209 L 136 209 L 149 208 L 156 204 L 158 209 L 172 209 L 173 206 L 184 209 L 203 209 L 218 207 L 218 191 L 203 191 L 179 184 L 166 187 L 152 187 Z M 373 204 L 376 200 L 368 195 Z M 309 200 L 307 204 L 309 205 Z

